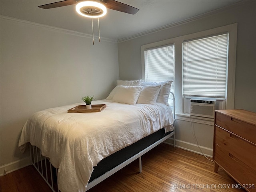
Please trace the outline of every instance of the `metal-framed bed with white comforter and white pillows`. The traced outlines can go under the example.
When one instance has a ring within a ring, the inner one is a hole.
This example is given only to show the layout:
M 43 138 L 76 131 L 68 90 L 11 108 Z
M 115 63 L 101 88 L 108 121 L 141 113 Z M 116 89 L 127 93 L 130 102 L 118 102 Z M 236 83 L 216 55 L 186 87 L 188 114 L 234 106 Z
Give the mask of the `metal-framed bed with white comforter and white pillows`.
M 32 164 L 47 182 L 50 177 L 53 191 L 54 176 L 58 191 L 84 192 L 136 158 L 141 172 L 144 153 L 170 136 L 175 140 L 174 115 L 166 102 L 171 81 L 128 83 L 118 81 L 105 100 L 92 102 L 106 104 L 101 112 L 68 113 L 83 104 L 76 103 L 36 112 L 27 120 L 19 148 L 32 146 Z M 56 168 L 50 174 L 43 171 L 51 167 L 46 160 Z

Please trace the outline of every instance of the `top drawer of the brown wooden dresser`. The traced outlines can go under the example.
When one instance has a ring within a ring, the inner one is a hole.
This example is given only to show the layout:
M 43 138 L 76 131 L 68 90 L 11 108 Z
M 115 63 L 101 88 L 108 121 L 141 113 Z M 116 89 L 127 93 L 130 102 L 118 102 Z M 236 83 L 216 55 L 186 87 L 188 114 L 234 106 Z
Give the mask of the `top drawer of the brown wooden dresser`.
M 215 113 L 215 124 L 256 144 L 256 126 L 230 116 Z

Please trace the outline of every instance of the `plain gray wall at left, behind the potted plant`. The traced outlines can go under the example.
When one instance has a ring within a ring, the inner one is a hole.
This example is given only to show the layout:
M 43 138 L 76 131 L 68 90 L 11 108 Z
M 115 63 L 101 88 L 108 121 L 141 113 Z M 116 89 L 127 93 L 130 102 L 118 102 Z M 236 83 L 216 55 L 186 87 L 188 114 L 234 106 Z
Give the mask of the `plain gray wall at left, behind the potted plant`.
M 117 53 L 114 40 L 93 46 L 83 34 L 1 17 L 1 166 L 28 156 L 18 139 L 34 112 L 105 99 L 119 79 Z

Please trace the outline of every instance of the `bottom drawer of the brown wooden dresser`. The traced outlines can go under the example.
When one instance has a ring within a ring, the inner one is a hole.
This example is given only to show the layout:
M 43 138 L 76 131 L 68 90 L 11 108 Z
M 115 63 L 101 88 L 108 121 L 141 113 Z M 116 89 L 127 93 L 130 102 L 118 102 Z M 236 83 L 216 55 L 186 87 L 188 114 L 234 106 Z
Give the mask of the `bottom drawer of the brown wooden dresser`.
M 254 189 L 247 189 L 256 192 L 256 171 L 241 162 L 236 156 L 230 154 L 224 148 L 215 144 L 214 161 L 217 162 L 226 172 L 240 184 L 252 184 Z

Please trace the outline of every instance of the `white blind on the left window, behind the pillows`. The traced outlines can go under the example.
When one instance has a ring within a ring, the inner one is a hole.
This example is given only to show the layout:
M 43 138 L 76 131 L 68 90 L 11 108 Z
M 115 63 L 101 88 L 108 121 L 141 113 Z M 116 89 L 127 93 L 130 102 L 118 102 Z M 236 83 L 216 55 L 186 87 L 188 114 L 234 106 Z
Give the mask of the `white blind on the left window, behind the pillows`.
M 174 81 L 174 44 L 146 49 L 144 57 L 145 81 Z M 171 91 L 174 92 L 174 82 L 172 82 Z M 169 99 L 169 104 L 172 105 L 171 99 Z

